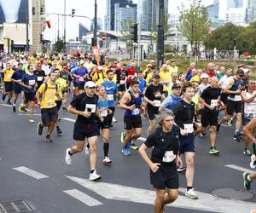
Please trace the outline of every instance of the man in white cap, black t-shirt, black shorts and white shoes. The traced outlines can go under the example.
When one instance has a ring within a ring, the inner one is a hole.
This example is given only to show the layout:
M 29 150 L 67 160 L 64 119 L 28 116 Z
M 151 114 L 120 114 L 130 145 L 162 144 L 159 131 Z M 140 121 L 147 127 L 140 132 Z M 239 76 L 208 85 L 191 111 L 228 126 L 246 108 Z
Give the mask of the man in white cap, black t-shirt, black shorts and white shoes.
M 65 161 L 67 164 L 72 164 L 72 156 L 75 153 L 80 153 L 84 149 L 84 141 L 90 145 L 90 181 L 97 181 L 102 178 L 96 173 L 97 160 L 97 136 L 100 135 L 100 130 L 97 125 L 97 117 L 103 122 L 97 108 L 98 97 L 96 94 L 96 84 L 88 81 L 84 85 L 85 93 L 77 95 L 70 105 L 67 107 L 67 112 L 78 115 L 74 124 L 73 140 L 77 144 L 66 150 Z

